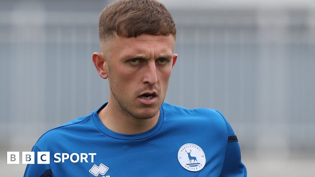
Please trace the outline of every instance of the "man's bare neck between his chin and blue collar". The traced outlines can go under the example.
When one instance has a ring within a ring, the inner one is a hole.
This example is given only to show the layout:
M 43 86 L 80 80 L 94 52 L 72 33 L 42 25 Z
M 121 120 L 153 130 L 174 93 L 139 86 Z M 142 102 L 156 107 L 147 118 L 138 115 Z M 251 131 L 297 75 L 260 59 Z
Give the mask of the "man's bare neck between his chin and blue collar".
M 101 122 L 110 130 L 121 134 L 138 134 L 153 128 L 160 116 L 160 111 L 150 119 L 139 119 L 119 109 L 112 102 L 98 113 Z

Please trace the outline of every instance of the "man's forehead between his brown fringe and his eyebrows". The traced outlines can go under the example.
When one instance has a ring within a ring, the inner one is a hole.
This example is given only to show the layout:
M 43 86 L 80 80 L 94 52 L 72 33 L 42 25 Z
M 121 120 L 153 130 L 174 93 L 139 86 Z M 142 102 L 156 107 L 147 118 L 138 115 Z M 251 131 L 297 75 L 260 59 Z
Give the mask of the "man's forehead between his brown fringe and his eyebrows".
M 173 35 L 141 34 L 137 37 L 122 37 L 115 35 L 106 44 L 108 54 L 130 55 L 149 51 L 159 53 L 173 53 L 175 37 Z

